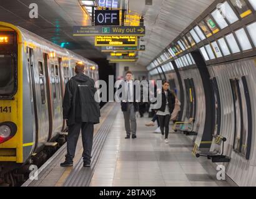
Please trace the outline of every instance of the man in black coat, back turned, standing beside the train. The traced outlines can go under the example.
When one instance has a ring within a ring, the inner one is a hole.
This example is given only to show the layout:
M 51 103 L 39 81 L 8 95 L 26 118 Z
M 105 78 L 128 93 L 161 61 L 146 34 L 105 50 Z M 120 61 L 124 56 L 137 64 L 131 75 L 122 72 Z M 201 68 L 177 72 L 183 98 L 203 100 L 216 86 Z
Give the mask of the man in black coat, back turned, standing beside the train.
M 99 123 L 99 103 L 94 99 L 96 88 L 94 80 L 84 75 L 84 65 L 76 64 L 76 76 L 73 76 L 66 84 L 63 99 L 63 119 L 68 126 L 67 154 L 61 167 L 73 165 L 76 152 L 77 140 L 82 132 L 82 146 L 84 152 L 84 167 L 91 166 L 92 141 L 94 124 Z

